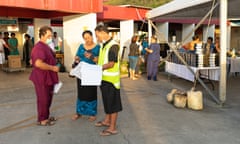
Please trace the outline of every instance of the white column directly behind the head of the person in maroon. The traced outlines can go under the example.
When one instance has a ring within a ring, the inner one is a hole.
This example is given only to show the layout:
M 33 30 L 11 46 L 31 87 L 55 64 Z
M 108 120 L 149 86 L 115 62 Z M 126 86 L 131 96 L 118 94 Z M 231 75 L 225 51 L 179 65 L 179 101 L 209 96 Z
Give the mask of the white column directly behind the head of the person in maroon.
M 39 19 L 35 18 L 33 20 L 34 25 L 34 43 L 37 43 L 39 41 L 39 28 L 42 26 L 51 26 L 50 19 Z

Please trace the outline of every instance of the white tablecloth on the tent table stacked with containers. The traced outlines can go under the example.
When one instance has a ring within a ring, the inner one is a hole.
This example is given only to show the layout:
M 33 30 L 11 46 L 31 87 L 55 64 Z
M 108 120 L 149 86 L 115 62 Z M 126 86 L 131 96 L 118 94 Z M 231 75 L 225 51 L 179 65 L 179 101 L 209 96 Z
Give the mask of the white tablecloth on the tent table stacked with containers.
M 201 77 L 219 81 L 220 79 L 220 67 L 191 67 L 194 74 L 191 73 L 191 71 L 185 66 L 181 64 L 171 63 L 166 61 L 165 65 L 165 71 L 171 74 L 174 74 L 178 77 L 181 77 L 183 79 L 189 80 L 194 82 L 195 81 L 195 75 L 197 72 L 200 73 Z

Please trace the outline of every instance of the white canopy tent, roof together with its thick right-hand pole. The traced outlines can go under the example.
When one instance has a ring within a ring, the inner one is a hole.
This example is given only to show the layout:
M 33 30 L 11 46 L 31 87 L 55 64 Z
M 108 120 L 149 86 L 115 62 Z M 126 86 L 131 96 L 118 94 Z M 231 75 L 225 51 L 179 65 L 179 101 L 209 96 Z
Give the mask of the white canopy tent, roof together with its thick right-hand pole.
M 216 0 L 218 1 L 218 0 Z M 164 19 L 198 19 L 200 20 L 212 7 L 213 0 L 173 0 L 148 12 L 150 21 Z M 219 99 L 223 104 L 226 101 L 226 49 L 227 49 L 227 17 L 240 18 L 240 0 L 219 0 L 220 6 L 213 11 L 212 17 L 220 20 L 220 83 Z M 149 30 L 151 32 L 151 30 Z

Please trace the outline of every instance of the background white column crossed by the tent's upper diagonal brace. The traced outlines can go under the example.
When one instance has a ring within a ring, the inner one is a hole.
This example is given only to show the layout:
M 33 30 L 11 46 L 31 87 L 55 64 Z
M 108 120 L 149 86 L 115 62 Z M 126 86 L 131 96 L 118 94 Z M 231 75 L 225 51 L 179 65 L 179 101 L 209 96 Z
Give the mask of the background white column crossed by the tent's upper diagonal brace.
M 182 41 L 183 44 L 186 44 L 186 42 L 192 41 L 192 36 L 194 36 L 194 26 L 195 24 L 183 24 L 183 30 L 182 30 Z M 189 34 L 191 34 L 189 36 Z M 189 36 L 189 37 L 187 37 Z

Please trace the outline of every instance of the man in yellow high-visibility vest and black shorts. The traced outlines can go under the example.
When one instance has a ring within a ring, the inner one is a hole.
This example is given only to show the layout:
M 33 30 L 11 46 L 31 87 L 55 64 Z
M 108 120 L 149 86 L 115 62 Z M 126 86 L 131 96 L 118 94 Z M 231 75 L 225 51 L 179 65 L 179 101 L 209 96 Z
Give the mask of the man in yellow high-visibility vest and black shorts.
M 100 132 L 101 136 L 117 134 L 118 112 L 122 111 L 120 97 L 120 58 L 119 45 L 109 35 L 106 26 L 98 25 L 95 34 L 99 42 L 103 43 L 100 48 L 98 65 L 102 66 L 102 84 L 100 86 L 104 111 L 104 120 L 95 124 L 97 127 L 107 127 Z

